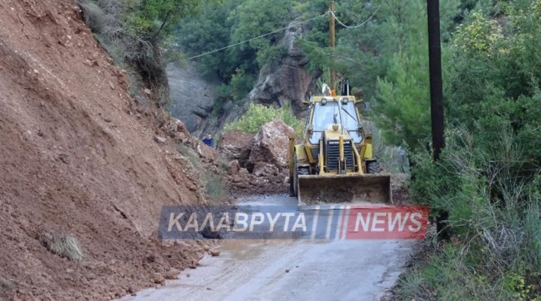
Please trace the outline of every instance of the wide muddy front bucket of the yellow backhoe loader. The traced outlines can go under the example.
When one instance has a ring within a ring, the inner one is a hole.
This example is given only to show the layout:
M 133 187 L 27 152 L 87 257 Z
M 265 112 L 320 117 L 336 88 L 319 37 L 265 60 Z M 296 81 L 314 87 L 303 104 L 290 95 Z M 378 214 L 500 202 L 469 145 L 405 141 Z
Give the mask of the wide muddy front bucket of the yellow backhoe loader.
M 299 175 L 299 205 L 390 204 L 389 174 Z

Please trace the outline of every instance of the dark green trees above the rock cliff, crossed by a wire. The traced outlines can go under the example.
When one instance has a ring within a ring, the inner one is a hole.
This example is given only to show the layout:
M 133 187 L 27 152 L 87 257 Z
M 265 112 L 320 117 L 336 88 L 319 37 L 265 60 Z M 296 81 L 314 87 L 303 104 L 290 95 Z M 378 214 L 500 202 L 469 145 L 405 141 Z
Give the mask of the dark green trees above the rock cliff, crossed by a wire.
M 201 13 L 178 26 L 178 44 L 188 56 L 221 49 L 286 27 L 293 19 L 288 0 L 224 0 L 206 3 Z M 220 101 L 238 101 L 252 89 L 261 68 L 274 68 L 286 47 L 279 41 L 283 32 L 199 58 L 200 70 L 218 77 Z

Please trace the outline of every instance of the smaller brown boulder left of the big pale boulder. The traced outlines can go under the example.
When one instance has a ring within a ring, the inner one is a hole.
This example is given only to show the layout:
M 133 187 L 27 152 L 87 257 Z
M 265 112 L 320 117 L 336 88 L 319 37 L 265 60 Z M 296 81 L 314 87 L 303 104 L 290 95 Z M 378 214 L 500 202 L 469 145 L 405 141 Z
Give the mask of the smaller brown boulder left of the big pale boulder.
M 225 132 L 218 143 L 218 150 L 228 160 L 237 160 L 241 167 L 248 165 L 254 135 L 238 131 Z

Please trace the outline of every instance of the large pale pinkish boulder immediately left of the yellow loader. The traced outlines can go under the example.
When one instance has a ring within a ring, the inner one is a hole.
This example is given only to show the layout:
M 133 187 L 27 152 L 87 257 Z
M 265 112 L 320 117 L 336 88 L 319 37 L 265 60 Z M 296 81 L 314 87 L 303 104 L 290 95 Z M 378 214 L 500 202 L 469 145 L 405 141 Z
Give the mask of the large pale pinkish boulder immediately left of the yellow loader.
M 279 119 L 263 124 L 260 132 L 254 137 L 254 144 L 248 159 L 250 166 L 269 170 L 268 165 L 274 165 L 280 171 L 286 169 L 289 159 L 288 137 L 294 134 L 293 128 Z M 253 170 L 253 172 L 260 173 L 257 170 Z

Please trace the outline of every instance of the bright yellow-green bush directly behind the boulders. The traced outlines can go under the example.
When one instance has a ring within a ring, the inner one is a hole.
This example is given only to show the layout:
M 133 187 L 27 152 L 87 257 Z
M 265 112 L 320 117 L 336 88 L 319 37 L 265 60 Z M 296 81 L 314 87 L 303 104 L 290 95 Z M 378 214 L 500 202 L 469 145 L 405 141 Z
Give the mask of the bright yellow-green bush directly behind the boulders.
M 261 126 L 269 121 L 281 119 L 285 124 L 296 130 L 300 134 L 303 130 L 303 123 L 291 113 L 291 108 L 284 106 L 279 109 L 266 107 L 265 105 L 250 103 L 248 110 L 236 122 L 226 124 L 224 131 L 236 129 L 238 131 L 256 134 Z

